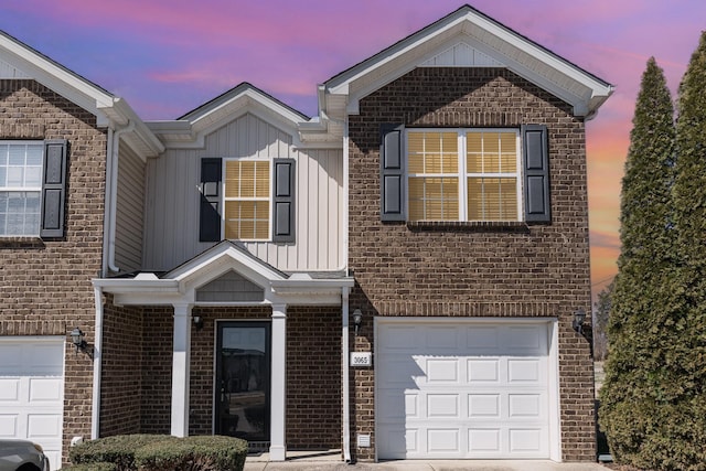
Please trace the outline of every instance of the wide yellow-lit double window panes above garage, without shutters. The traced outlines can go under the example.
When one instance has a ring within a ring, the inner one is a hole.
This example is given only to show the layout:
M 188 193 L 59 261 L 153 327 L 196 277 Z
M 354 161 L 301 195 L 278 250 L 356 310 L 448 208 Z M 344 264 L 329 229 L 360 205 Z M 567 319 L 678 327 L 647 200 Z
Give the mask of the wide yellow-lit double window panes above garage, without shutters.
M 409 221 L 518 221 L 518 132 L 407 130 Z

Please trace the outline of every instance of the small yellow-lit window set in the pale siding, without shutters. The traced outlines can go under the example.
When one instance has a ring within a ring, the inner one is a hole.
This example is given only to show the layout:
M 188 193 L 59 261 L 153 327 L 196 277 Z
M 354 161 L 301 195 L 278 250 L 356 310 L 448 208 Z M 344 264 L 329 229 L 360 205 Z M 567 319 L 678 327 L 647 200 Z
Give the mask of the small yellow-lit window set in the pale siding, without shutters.
M 270 161 L 225 160 L 225 238 L 270 237 Z

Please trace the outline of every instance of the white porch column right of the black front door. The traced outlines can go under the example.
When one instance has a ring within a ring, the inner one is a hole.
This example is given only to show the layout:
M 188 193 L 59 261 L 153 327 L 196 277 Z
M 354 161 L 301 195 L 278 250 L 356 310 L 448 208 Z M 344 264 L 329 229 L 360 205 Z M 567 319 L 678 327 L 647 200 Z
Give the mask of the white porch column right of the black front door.
M 287 306 L 272 304 L 272 373 L 270 381 L 270 461 L 285 461 L 287 400 Z

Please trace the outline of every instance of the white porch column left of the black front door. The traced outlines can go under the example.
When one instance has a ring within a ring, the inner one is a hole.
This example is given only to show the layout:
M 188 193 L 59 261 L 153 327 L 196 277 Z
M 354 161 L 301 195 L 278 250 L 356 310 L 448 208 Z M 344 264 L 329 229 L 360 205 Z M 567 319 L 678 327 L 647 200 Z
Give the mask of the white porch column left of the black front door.
M 172 431 L 189 436 L 189 363 L 191 360 L 191 304 L 174 304 L 172 353 Z

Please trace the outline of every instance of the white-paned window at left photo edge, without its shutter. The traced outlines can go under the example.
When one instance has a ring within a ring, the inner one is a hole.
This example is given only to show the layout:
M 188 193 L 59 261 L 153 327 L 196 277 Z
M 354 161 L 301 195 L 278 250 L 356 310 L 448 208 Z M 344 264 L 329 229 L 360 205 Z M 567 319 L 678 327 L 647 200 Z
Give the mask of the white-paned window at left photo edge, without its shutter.
M 39 236 L 43 141 L 0 141 L 0 236 Z

